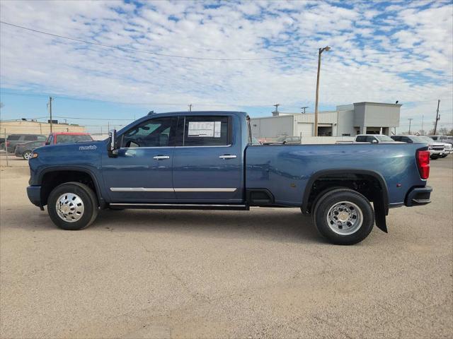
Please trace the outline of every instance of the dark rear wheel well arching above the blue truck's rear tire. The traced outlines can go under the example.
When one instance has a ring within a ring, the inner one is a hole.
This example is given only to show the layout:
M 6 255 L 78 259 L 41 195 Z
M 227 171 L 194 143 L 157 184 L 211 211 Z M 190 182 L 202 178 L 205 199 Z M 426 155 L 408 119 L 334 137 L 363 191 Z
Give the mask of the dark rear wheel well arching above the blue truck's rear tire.
M 311 185 L 306 211 L 311 212 L 317 199 L 332 189 L 347 188 L 359 192 L 369 201 L 386 206 L 386 187 L 372 174 L 325 174 L 317 177 Z

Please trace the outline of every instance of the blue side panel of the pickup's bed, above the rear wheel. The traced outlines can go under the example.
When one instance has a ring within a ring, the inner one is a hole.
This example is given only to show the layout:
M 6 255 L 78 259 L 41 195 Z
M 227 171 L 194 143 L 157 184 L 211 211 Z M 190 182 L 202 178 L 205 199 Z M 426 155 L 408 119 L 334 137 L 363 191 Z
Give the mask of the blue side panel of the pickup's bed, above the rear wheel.
M 389 206 L 399 206 L 414 183 L 426 184 L 415 161 L 418 149 L 428 148 L 417 143 L 250 145 L 246 148 L 246 189 L 267 189 L 275 204 L 301 206 L 306 185 L 317 174 L 363 170 L 382 177 Z

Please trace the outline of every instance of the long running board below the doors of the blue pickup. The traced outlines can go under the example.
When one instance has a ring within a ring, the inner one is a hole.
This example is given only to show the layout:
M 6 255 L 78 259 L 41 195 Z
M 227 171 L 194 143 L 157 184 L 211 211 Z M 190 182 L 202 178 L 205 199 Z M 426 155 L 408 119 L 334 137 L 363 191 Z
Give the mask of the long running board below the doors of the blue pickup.
M 248 205 L 222 205 L 206 203 L 110 203 L 116 208 L 142 208 L 154 210 L 250 210 Z

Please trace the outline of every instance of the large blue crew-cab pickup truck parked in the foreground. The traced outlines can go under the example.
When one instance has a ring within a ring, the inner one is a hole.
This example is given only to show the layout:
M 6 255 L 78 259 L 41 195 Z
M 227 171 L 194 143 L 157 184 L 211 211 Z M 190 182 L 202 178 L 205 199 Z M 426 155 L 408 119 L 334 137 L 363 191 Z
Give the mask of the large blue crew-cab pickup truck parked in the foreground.
M 251 145 L 244 112 L 149 114 L 105 141 L 37 148 L 30 201 L 64 230 L 102 208 L 311 213 L 334 244 L 387 232 L 389 208 L 430 203 L 425 144 Z M 373 206 L 371 205 L 373 203 Z

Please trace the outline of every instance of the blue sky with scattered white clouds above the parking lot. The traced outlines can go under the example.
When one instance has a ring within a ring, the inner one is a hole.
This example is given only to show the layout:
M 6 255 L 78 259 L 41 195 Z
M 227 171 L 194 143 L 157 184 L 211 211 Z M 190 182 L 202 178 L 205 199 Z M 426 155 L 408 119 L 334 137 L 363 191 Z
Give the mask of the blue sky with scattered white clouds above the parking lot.
M 330 46 L 320 110 L 398 100 L 397 131 L 431 129 L 440 99 L 451 129 L 452 18 L 441 0 L 2 0 L 0 118 L 45 121 L 49 95 L 55 119 L 92 132 L 189 104 L 314 112 Z

